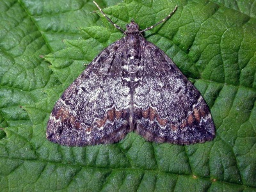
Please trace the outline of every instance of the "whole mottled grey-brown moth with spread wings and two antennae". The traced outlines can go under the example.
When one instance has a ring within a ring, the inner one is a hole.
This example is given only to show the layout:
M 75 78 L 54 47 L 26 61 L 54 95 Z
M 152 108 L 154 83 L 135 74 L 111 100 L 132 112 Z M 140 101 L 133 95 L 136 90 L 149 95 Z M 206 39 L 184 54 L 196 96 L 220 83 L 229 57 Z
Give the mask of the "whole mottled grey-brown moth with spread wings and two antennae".
M 95 3 L 95 2 L 94 2 Z M 52 109 L 47 139 L 60 145 L 115 143 L 134 131 L 147 141 L 189 145 L 214 138 L 214 122 L 200 92 L 131 20 L 124 37 L 104 49 Z

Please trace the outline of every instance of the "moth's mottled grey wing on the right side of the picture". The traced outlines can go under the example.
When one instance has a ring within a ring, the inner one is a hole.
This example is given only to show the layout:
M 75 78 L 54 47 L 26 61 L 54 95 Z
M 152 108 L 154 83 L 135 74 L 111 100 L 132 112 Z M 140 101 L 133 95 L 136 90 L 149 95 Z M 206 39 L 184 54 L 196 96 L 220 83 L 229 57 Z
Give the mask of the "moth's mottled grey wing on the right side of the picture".
M 135 131 L 159 143 L 212 140 L 214 123 L 202 95 L 163 51 L 142 38 L 141 66 L 133 97 Z

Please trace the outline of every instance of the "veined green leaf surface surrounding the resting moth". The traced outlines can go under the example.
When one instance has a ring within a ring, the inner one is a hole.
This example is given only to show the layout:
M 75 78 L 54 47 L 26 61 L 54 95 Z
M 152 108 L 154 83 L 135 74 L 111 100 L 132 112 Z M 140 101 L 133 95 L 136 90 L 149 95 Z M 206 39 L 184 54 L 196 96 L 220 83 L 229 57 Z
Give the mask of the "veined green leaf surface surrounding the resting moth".
M 133 18 L 141 29 L 178 6 L 145 38 L 200 90 L 216 138 L 179 146 L 131 132 L 113 145 L 49 142 L 45 131 L 56 100 L 84 65 L 123 34 L 94 13 L 92 1 L 1 0 L 0 190 L 255 191 L 255 3 L 98 3 L 122 28 Z

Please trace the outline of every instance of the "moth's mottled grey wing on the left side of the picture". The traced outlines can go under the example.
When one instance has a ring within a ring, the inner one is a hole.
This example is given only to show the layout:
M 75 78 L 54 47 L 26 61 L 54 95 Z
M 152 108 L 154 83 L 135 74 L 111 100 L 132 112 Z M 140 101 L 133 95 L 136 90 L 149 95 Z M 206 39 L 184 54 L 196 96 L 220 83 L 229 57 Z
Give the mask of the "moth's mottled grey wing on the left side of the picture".
M 114 143 L 131 131 L 120 41 L 104 49 L 61 95 L 47 124 L 48 140 L 68 146 Z

